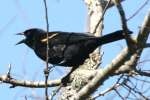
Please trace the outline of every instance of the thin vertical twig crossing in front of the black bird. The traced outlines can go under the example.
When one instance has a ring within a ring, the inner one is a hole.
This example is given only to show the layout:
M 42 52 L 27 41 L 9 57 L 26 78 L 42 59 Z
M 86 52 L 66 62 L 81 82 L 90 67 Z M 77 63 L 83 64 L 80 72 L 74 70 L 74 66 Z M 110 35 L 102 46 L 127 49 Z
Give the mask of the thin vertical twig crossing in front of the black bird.
M 44 70 L 45 73 L 45 100 L 49 100 L 48 98 L 48 76 L 49 76 L 49 68 L 48 68 L 48 50 L 49 50 L 49 39 L 48 39 L 48 32 L 49 32 L 49 22 L 48 22 L 48 9 L 47 9 L 47 3 L 46 0 L 44 0 L 44 6 L 45 6 L 45 19 L 46 19 L 46 28 L 47 28 L 47 49 L 46 49 L 46 69 Z

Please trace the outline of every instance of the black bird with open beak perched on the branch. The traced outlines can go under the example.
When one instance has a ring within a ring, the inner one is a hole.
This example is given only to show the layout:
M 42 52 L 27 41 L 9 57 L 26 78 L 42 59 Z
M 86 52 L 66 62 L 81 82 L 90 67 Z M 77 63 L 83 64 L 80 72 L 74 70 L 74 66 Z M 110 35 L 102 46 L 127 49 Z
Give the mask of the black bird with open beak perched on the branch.
M 18 35 L 26 38 L 17 44 L 25 43 L 32 48 L 36 55 L 46 61 L 47 32 L 33 28 L 26 30 Z M 132 33 L 131 31 L 128 34 Z M 54 65 L 69 66 L 76 69 L 83 64 L 98 46 L 106 43 L 124 39 L 122 30 L 112 32 L 102 37 L 95 37 L 83 33 L 74 32 L 49 32 L 49 60 Z

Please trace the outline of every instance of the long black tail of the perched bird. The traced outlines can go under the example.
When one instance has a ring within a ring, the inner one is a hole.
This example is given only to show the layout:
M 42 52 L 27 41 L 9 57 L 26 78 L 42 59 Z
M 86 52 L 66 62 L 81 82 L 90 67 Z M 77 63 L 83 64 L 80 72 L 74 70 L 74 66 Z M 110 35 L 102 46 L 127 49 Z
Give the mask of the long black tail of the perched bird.
M 131 33 L 132 33 L 131 31 L 128 31 L 128 34 L 131 34 Z M 119 31 L 115 31 L 110 34 L 104 35 L 102 37 L 99 37 L 97 39 L 98 40 L 97 43 L 99 43 L 98 45 L 103 45 L 103 44 L 114 42 L 114 41 L 121 40 L 124 38 L 125 36 L 123 34 L 123 30 L 119 30 Z

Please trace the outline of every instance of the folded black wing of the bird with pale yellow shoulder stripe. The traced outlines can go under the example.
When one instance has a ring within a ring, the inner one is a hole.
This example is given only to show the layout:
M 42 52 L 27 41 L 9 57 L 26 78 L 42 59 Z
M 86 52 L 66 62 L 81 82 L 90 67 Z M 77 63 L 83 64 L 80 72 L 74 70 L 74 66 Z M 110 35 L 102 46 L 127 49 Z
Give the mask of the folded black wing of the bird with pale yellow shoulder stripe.
M 74 44 L 77 42 L 94 39 L 93 35 L 88 35 L 84 33 L 73 33 L 73 32 L 51 32 L 49 35 L 49 43 L 51 44 Z M 41 40 L 42 43 L 47 43 L 47 37 Z

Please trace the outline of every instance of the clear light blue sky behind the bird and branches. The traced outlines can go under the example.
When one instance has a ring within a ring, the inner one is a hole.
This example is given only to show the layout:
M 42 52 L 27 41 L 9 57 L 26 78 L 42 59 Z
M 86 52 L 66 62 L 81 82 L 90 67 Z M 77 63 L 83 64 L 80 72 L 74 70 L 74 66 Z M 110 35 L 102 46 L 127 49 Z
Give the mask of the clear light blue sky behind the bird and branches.
M 83 0 L 47 0 L 50 31 L 86 32 L 87 8 Z M 129 18 L 146 0 L 126 0 L 123 3 Z M 148 3 L 134 18 L 128 21 L 129 29 L 136 36 L 144 16 L 150 10 Z M 45 63 L 25 45 L 15 45 L 23 39 L 15 35 L 29 28 L 46 29 L 43 0 L 2 0 L 0 4 L 0 75 L 6 74 L 11 64 L 11 75 L 16 79 L 44 80 Z M 106 12 L 103 34 L 121 29 L 120 18 L 115 7 Z M 126 44 L 119 41 L 103 46 L 104 58 L 102 66 L 107 65 Z M 109 47 L 109 48 L 108 48 Z M 113 51 L 113 52 L 112 52 Z M 148 50 L 147 50 L 148 52 Z M 143 58 L 148 53 L 144 52 Z M 146 65 L 145 65 L 146 66 Z M 56 67 L 50 73 L 50 79 L 65 75 L 68 68 Z M 65 72 L 65 73 L 64 73 Z M 107 83 L 109 85 L 109 83 Z M 9 88 L 10 85 L 0 84 L 1 100 L 24 100 L 25 96 L 44 96 L 44 89 L 23 87 Z M 33 100 L 33 98 L 29 98 Z M 105 98 L 104 98 L 105 100 Z M 119 99 L 118 99 L 119 100 Z

